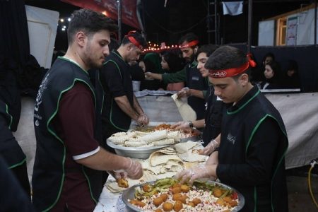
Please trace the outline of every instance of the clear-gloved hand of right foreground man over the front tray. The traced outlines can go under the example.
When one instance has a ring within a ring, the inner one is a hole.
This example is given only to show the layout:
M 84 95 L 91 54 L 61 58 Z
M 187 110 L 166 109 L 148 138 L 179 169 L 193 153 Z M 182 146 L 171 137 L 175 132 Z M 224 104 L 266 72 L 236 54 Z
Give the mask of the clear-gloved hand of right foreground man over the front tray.
M 194 180 L 201 178 L 216 180 L 215 174 L 213 175 L 213 165 L 197 165 L 179 172 L 175 178 L 180 179 L 180 184 L 189 181 L 190 185 L 193 184 Z

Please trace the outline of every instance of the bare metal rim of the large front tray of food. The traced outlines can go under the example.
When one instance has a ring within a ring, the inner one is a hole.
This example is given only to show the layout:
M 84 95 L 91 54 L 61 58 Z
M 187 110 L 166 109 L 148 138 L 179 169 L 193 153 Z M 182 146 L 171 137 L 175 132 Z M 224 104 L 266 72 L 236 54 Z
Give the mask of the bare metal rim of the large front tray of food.
M 217 184 L 220 187 L 225 187 L 226 189 L 231 189 L 232 191 L 237 193 L 237 196 L 238 196 L 238 199 L 239 199 L 239 203 L 237 204 L 237 206 L 231 212 L 240 211 L 243 208 L 243 206 L 245 205 L 244 196 L 240 192 L 237 192 L 236 189 L 234 189 L 234 188 L 232 188 L 232 187 L 230 187 L 230 186 L 228 186 L 226 184 L 223 184 L 221 182 L 214 182 L 214 181 L 210 181 L 210 180 L 208 180 L 207 182 L 209 184 Z M 154 183 L 155 183 L 155 181 L 153 181 L 153 182 L 145 182 L 143 184 L 154 184 Z M 129 207 L 133 211 L 142 211 L 142 210 L 140 208 L 137 208 L 136 206 L 130 204 L 128 200 L 135 198 L 134 197 L 135 196 L 135 188 L 136 187 L 141 187 L 141 186 L 143 186 L 143 184 L 136 184 L 133 187 L 130 187 L 129 189 L 126 189 L 122 193 L 122 201 L 124 201 L 124 204 L 126 204 L 126 206 Z

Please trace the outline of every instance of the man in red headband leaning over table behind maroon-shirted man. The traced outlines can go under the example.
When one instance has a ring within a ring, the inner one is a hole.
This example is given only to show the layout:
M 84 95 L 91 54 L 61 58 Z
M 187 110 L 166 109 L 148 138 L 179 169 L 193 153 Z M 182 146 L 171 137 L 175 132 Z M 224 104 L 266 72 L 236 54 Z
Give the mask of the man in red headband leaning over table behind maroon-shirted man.
M 146 40 L 136 31 L 129 32 L 122 45 L 113 50 L 100 69 L 100 82 L 105 91 L 102 109 L 102 136 L 105 141 L 112 134 L 128 131 L 131 119 L 139 125 L 149 122 L 136 99 L 131 82 L 129 62 L 139 59 Z M 114 151 L 108 147 L 108 150 Z

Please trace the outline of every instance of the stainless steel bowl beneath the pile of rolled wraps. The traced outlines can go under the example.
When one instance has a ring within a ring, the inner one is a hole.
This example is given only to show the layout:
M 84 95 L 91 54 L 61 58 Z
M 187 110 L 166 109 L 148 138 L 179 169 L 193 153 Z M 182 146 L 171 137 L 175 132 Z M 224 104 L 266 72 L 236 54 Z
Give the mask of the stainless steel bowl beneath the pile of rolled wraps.
M 117 155 L 122 155 L 124 157 L 129 158 L 139 158 L 139 159 L 147 159 L 149 158 L 149 155 L 153 153 L 154 151 L 158 151 L 160 148 L 164 148 L 165 146 L 140 146 L 140 147 L 126 147 L 126 146 L 119 146 L 112 141 L 109 141 L 107 139 L 107 145 L 114 148 L 114 151 L 117 153 Z

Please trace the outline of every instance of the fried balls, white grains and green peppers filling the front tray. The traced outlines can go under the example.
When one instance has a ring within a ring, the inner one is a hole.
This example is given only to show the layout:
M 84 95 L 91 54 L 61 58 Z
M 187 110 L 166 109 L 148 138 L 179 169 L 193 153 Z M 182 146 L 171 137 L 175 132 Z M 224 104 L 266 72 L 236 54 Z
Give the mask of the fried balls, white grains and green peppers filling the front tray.
M 145 192 L 143 191 L 145 185 L 147 184 L 136 187 L 136 199 L 128 199 L 130 204 L 140 208 L 141 211 L 228 212 L 232 211 L 239 204 L 236 192 L 229 189 L 223 189 L 217 185 L 210 185 L 208 188 L 202 189 L 202 186 L 189 187 L 185 184 L 180 185 L 178 183 L 173 183 L 168 185 L 169 187 L 164 185 L 164 189 L 157 189 L 157 191 L 160 190 L 160 192 L 151 190 L 153 189 L 153 186 L 151 185 L 150 187 L 152 188 L 147 189 L 148 191 Z M 185 191 L 183 189 L 181 192 L 177 187 L 188 187 L 188 189 Z M 146 194 L 146 196 L 143 196 L 143 194 Z M 166 196 L 166 198 L 163 198 L 163 196 Z

